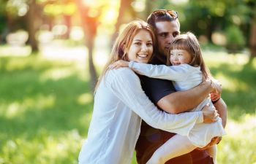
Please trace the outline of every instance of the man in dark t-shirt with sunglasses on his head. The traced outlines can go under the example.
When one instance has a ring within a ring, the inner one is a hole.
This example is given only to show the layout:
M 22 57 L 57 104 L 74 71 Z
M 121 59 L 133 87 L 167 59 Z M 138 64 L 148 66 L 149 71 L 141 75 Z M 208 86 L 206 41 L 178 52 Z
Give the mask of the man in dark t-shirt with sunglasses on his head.
M 157 53 L 154 55 L 151 63 L 165 64 L 167 60 L 167 50 L 173 39 L 180 34 L 180 24 L 178 22 L 178 13 L 172 10 L 156 10 L 148 16 L 147 22 L 154 28 L 157 36 Z M 200 104 L 206 96 L 211 93 L 211 86 L 203 82 L 201 85 L 192 88 L 192 90 L 176 92 L 172 82 L 165 79 L 151 79 L 140 76 L 141 85 L 148 98 L 159 109 L 170 111 L 173 114 L 186 112 Z M 222 118 L 222 124 L 225 127 L 227 120 L 227 106 L 220 98 L 214 102 L 214 106 Z M 142 122 L 140 137 L 136 144 L 136 156 L 139 164 L 144 164 L 153 155 L 154 151 L 165 143 L 174 133 L 168 133 L 163 130 L 155 129 Z M 217 144 L 220 138 L 214 138 L 208 145 Z M 168 160 L 167 164 L 213 164 L 213 160 L 205 150 L 194 150 L 186 155 Z

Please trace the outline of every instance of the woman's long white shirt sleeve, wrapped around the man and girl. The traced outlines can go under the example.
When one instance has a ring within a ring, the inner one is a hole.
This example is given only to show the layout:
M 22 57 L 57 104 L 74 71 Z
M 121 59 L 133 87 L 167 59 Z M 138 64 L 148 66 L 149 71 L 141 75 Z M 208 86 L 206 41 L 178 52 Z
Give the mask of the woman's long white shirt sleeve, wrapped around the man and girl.
M 110 70 L 107 86 L 129 109 L 148 125 L 187 136 L 196 123 L 203 122 L 202 112 L 167 114 L 149 101 L 135 73 L 127 68 Z

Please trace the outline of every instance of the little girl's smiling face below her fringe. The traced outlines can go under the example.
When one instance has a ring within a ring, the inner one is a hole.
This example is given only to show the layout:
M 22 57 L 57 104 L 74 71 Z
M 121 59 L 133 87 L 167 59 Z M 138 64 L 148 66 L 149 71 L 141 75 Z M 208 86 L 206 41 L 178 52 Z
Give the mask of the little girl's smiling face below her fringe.
M 189 64 L 192 60 L 192 56 L 187 50 L 170 50 L 170 63 L 173 66 L 187 63 Z

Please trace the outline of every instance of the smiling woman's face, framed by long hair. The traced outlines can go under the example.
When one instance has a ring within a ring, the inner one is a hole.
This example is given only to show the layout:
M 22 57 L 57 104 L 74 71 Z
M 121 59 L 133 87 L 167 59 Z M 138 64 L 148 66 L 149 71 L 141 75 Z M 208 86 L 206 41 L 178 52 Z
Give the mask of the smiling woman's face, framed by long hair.
M 138 63 L 148 63 L 152 53 L 153 40 L 150 33 L 143 29 L 138 31 L 128 50 L 129 60 L 134 60 Z

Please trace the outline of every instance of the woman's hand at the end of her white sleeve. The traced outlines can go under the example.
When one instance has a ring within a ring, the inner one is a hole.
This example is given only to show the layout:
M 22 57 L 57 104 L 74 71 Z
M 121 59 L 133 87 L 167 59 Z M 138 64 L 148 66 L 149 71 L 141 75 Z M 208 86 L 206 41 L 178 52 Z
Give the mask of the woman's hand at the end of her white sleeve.
M 211 123 L 211 122 L 217 122 L 217 117 L 219 117 L 219 114 L 214 106 L 204 106 L 203 107 L 203 122 L 204 123 Z

